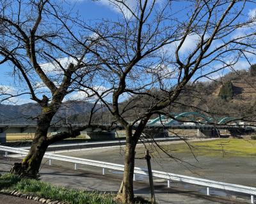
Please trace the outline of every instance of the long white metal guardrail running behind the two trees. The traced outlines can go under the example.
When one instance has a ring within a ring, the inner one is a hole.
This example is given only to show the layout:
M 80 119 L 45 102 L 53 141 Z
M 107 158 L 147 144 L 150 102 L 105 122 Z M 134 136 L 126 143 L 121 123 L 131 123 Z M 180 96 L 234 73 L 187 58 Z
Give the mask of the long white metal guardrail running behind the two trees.
M 0 145 L 0 151 L 5 152 L 5 156 L 8 157 L 8 152 L 21 154 L 21 157 L 26 156 L 28 154 L 29 150 L 26 149 L 18 149 L 13 147 L 6 147 L 3 145 Z M 111 169 L 111 170 L 118 170 L 118 171 L 124 171 L 124 165 L 122 164 L 114 164 L 114 163 L 107 163 L 103 161 L 95 161 L 90 159 L 83 159 L 83 158 L 77 158 L 77 157 L 69 157 L 69 156 L 62 156 L 58 154 L 50 154 L 45 153 L 44 158 L 49 159 L 49 165 L 51 165 L 51 160 L 57 160 L 57 161 L 65 161 L 69 163 L 74 163 L 74 169 L 77 170 L 77 164 L 84 164 L 89 166 L 97 166 L 102 168 L 102 173 L 105 175 L 105 169 Z M 148 175 L 148 170 L 145 168 L 134 168 L 134 180 L 135 180 L 135 174 L 140 175 Z M 254 196 L 256 195 L 256 188 L 255 187 L 249 187 L 249 186 L 241 186 L 237 184 L 229 184 L 225 182 L 218 182 L 214 180 L 207 180 L 207 179 L 199 179 L 195 177 L 188 177 L 184 175 L 178 175 L 174 173 L 166 173 L 163 171 L 155 171 L 152 170 L 153 177 L 166 179 L 168 187 L 170 187 L 170 180 L 175 180 L 178 182 L 184 182 L 188 184 L 196 184 L 198 186 L 205 186 L 207 187 L 207 195 L 210 195 L 210 187 L 214 189 L 222 189 L 225 191 L 235 191 L 239 193 L 244 194 L 250 194 L 251 195 L 251 203 L 254 203 Z

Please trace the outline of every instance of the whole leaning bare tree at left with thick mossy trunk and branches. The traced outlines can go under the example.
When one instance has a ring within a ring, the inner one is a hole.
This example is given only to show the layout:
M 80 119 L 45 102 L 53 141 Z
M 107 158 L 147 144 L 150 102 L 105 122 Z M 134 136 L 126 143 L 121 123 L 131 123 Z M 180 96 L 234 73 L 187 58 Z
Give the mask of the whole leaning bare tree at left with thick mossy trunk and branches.
M 61 18 L 65 24 L 62 24 Z M 76 17 L 70 17 L 61 6 L 48 0 L 0 1 L 0 64 L 9 64 L 13 80 L 22 87 L 18 94 L 2 89 L 2 99 L 29 94 L 41 108 L 36 117 L 36 133 L 28 155 L 22 163 L 15 163 L 13 173 L 37 177 L 45 150 L 51 143 L 76 137 L 84 128 L 70 129 L 48 136 L 51 121 L 59 110 L 63 99 L 70 94 L 76 73 L 90 84 L 93 70 L 90 57 L 83 61 L 88 50 L 78 50 L 72 35 Z M 83 36 L 88 47 L 92 38 Z M 83 68 L 83 70 L 81 70 Z

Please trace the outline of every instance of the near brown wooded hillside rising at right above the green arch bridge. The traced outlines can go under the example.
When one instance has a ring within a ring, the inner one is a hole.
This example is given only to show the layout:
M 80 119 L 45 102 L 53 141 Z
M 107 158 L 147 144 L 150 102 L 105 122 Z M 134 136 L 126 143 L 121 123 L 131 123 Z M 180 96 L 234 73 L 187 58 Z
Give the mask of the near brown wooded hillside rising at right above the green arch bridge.
M 164 92 L 159 91 L 159 96 Z M 141 109 L 151 105 L 147 98 L 138 99 L 140 110 L 132 108 L 126 113 L 128 120 L 140 114 Z M 126 101 L 128 104 L 129 100 Z M 131 103 L 134 105 L 134 103 Z M 141 105 L 143 104 L 143 105 Z M 125 106 L 125 103 L 122 104 Z M 129 108 L 127 108 L 129 109 Z M 135 114 L 134 114 L 135 112 Z M 244 117 L 256 112 L 256 67 L 255 72 L 240 70 L 214 80 L 188 84 L 179 98 L 168 108 L 166 113 L 203 112 L 209 117 Z M 152 118 L 157 117 L 153 115 Z

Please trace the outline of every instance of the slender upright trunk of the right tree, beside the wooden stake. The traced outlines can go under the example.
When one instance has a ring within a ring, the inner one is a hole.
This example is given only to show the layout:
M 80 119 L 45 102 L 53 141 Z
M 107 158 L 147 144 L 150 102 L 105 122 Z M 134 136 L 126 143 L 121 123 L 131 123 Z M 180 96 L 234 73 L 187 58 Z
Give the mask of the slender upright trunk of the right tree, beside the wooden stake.
M 118 191 L 117 199 L 125 204 L 134 203 L 133 193 L 133 174 L 134 174 L 134 159 L 135 159 L 136 144 L 132 140 L 132 129 L 126 129 L 126 145 L 125 145 L 125 164 L 124 177 L 120 190 Z

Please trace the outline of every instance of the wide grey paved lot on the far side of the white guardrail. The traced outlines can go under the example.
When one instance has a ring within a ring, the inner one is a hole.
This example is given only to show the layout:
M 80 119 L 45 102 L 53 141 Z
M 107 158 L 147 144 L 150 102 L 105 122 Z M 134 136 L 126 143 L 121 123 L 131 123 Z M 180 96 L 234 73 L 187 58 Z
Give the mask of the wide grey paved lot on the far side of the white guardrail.
M 172 147 L 184 142 L 172 142 Z M 166 143 L 165 143 L 166 144 Z M 154 150 L 154 147 L 148 147 Z M 81 157 L 84 159 L 92 159 L 96 161 L 105 161 L 115 164 L 124 164 L 124 147 L 113 147 L 111 149 L 92 149 L 79 150 L 76 152 L 57 153 L 65 156 Z M 152 155 L 151 166 L 153 170 L 177 173 L 201 179 L 216 180 L 220 182 L 228 182 L 231 184 L 239 184 L 244 186 L 256 186 L 256 177 L 252 176 L 256 173 L 256 146 L 254 156 L 232 156 L 225 154 L 200 155 L 196 156 L 197 160 L 191 152 L 172 152 L 172 156 L 180 158 L 183 162 L 171 159 L 161 150 L 155 151 Z M 136 147 L 136 157 L 144 157 L 145 148 L 142 145 Z M 60 164 L 53 161 L 54 164 Z M 74 164 L 68 164 L 70 168 L 74 168 Z M 145 159 L 135 159 L 135 166 L 147 168 Z M 100 168 L 91 168 L 90 166 L 80 166 L 84 170 L 92 170 L 101 173 Z M 147 178 L 145 178 L 147 179 Z

